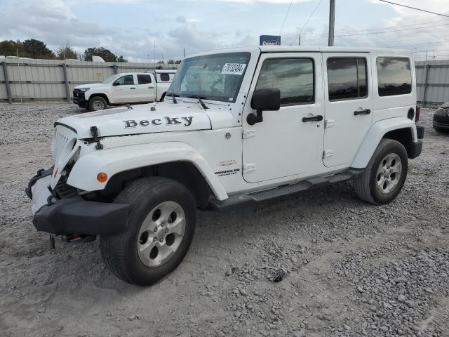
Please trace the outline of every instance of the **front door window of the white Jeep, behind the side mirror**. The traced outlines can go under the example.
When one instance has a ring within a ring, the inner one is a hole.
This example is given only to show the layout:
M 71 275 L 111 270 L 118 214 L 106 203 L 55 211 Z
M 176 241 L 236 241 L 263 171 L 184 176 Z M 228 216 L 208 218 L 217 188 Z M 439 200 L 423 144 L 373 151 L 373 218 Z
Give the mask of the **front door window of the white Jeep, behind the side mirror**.
M 279 88 L 281 105 L 314 103 L 314 61 L 310 58 L 264 60 L 255 88 Z

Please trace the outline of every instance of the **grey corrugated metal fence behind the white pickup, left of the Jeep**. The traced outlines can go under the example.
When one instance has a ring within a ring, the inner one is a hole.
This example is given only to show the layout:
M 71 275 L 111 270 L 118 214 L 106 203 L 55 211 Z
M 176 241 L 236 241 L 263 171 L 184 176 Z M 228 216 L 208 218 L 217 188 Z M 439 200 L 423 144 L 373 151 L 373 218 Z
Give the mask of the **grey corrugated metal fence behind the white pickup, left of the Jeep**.
M 3 61 L 3 60 L 1 60 Z M 1 62 L 0 61 L 0 62 Z M 22 100 L 65 100 L 65 77 L 63 64 L 67 65 L 69 94 L 74 86 L 105 81 L 117 72 L 147 72 L 154 69 L 152 63 L 85 62 L 74 60 L 34 60 L 7 58 L 6 64 L 14 102 Z M 178 65 L 156 65 L 177 68 Z M 6 83 L 0 64 L 0 102 L 7 101 Z

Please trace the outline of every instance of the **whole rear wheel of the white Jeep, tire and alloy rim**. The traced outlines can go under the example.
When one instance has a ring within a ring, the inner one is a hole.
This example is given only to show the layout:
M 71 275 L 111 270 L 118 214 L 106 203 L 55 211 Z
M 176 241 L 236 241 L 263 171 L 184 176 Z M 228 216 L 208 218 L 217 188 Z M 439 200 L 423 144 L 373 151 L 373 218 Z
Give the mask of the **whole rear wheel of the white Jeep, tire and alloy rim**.
M 382 139 L 365 171 L 354 179 L 354 189 L 371 204 L 388 204 L 401 192 L 407 171 L 406 148 L 396 140 Z

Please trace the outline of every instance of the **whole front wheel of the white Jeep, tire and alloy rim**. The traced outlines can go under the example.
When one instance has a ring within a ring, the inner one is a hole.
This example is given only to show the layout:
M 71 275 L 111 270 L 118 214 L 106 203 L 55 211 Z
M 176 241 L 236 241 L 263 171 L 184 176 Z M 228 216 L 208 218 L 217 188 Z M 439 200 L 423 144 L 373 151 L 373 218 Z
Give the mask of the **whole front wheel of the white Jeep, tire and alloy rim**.
M 147 286 L 172 272 L 189 250 L 195 229 L 195 202 L 174 180 L 142 178 L 114 202 L 130 204 L 128 230 L 100 238 L 102 259 L 114 275 Z

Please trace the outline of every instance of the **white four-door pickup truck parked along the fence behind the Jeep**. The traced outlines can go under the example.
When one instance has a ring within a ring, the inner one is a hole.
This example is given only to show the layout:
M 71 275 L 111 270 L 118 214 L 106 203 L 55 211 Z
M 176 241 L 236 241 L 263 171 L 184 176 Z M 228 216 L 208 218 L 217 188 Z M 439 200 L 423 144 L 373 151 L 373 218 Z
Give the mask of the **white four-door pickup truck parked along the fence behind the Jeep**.
M 90 111 L 104 110 L 108 105 L 161 101 L 176 70 L 125 72 L 102 83 L 81 84 L 73 91 L 73 102 Z

